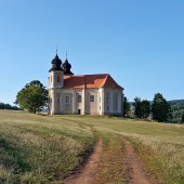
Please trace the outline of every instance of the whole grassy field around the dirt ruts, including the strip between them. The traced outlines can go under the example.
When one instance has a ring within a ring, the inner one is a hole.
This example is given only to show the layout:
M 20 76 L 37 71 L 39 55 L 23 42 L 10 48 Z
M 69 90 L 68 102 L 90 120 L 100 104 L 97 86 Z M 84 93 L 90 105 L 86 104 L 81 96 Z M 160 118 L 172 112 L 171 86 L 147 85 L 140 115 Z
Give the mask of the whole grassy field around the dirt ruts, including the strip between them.
M 103 156 L 96 183 L 128 183 L 126 139 L 161 183 L 184 183 L 184 126 L 115 117 L 42 116 L 0 111 L 0 183 L 62 183 L 98 139 Z

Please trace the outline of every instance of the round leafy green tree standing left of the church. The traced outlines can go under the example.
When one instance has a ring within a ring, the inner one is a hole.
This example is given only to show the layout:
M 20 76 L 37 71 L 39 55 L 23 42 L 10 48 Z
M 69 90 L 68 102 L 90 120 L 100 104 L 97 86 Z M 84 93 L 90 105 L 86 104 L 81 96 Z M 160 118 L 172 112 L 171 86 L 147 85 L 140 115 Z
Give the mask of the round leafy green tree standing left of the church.
M 25 86 L 16 95 L 15 104 L 29 113 L 40 111 L 48 102 L 48 91 L 39 80 Z

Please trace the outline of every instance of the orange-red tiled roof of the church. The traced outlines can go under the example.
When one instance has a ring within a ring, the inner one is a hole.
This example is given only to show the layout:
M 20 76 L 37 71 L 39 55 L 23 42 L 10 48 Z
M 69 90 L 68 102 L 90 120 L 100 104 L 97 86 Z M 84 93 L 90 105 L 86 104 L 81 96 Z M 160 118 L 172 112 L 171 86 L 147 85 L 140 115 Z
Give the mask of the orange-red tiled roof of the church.
M 123 89 L 108 74 L 64 76 L 64 89 L 84 89 L 84 88 Z

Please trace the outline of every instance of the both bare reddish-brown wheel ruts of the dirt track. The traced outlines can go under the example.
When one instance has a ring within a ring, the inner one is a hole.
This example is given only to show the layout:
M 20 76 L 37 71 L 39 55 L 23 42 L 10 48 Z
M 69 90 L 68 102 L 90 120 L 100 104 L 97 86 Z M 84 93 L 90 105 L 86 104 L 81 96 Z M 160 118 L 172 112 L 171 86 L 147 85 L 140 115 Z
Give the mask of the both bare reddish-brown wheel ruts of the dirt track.
M 158 180 L 148 172 L 139 156 L 134 152 L 131 143 L 122 139 L 124 145 L 124 155 L 122 158 L 122 165 L 127 166 L 126 183 L 129 184 L 160 184 Z M 95 183 L 95 170 L 100 163 L 100 156 L 103 156 L 103 141 L 97 142 L 94 147 L 93 154 L 89 158 L 87 165 L 76 174 L 69 176 L 65 184 L 93 184 Z M 100 182 L 98 182 L 100 183 Z

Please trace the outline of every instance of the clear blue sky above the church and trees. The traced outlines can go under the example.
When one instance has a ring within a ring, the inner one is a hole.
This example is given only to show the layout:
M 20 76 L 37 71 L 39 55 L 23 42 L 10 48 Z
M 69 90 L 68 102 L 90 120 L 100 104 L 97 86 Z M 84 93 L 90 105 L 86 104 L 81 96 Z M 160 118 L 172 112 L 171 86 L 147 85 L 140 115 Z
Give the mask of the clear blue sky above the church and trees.
M 184 98 L 184 0 L 0 0 L 0 102 L 48 84 L 56 45 L 73 73 L 110 74 L 129 101 Z

